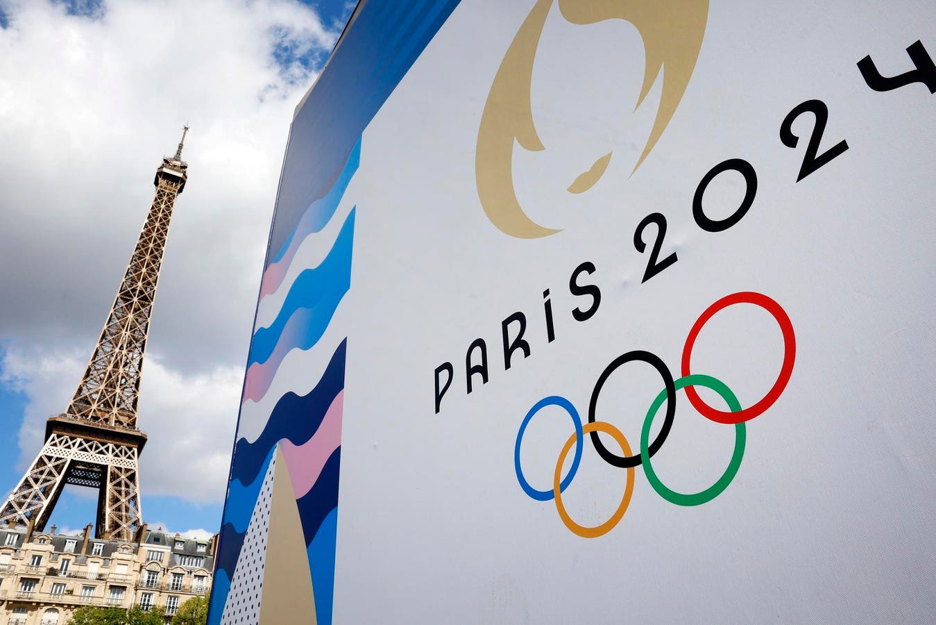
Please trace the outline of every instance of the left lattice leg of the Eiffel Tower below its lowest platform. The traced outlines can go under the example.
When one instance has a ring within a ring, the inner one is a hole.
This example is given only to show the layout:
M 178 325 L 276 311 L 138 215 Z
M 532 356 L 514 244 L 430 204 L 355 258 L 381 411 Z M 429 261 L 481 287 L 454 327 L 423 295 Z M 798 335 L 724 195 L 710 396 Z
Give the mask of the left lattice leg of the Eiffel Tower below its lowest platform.
M 39 451 L 32 466 L 16 485 L 3 508 L 0 524 L 28 526 L 32 521 L 42 531 L 52 508 L 62 494 L 65 475 L 71 460 L 71 450 L 59 444 L 53 435 Z

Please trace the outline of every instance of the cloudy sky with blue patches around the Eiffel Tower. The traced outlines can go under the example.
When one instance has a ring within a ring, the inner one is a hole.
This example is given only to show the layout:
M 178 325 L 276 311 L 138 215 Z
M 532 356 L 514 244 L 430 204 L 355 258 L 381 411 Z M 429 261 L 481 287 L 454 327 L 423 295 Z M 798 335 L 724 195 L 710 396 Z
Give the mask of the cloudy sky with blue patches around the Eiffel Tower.
M 0 0 L 0 495 L 62 412 L 191 126 L 140 391 L 144 520 L 219 526 L 292 111 L 345 0 Z M 93 522 L 66 488 L 51 523 Z

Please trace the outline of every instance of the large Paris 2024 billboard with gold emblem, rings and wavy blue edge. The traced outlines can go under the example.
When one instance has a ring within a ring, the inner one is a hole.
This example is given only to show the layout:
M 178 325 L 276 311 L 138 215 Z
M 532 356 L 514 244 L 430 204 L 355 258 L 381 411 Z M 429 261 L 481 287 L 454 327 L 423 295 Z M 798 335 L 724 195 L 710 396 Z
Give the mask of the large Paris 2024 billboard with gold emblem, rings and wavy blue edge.
M 936 618 L 936 6 L 370 0 L 212 623 Z

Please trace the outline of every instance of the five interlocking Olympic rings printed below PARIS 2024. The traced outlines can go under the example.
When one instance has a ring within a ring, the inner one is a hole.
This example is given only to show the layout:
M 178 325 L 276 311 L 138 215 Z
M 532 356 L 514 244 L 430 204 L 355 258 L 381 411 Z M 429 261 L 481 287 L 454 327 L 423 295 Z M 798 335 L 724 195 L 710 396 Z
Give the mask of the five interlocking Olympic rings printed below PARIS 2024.
M 705 326 L 715 313 L 723 308 L 741 303 L 759 305 L 767 310 L 768 313 L 777 320 L 783 335 L 783 362 L 780 375 L 773 383 L 768 394 L 747 409 L 741 408 L 738 397 L 736 397 L 731 389 L 721 380 L 712 378 L 711 376 L 689 373 L 693 346 L 695 345 L 695 339 L 698 337 L 702 327 Z M 732 480 L 734 480 L 735 476 L 738 474 L 741 460 L 744 457 L 745 444 L 747 442 L 746 422 L 763 414 L 777 401 L 777 398 L 780 397 L 783 390 L 786 388 L 786 384 L 790 381 L 796 357 L 797 339 L 793 330 L 793 323 L 790 321 L 790 318 L 781 305 L 774 302 L 767 295 L 752 291 L 741 291 L 727 295 L 710 305 L 698 320 L 695 321 L 695 324 L 689 331 L 689 335 L 686 337 L 686 342 L 682 350 L 682 360 L 680 363 L 682 377 L 680 379 L 674 380 L 665 363 L 655 354 L 649 351 L 633 350 L 611 361 L 611 364 L 607 365 L 605 370 L 598 377 L 598 380 L 592 388 L 592 397 L 589 401 L 588 424 L 585 424 L 584 427 L 582 426 L 581 417 L 578 415 L 578 410 L 576 410 L 575 406 L 573 406 L 568 399 L 559 395 L 550 395 L 536 402 L 534 407 L 530 409 L 523 418 L 523 422 L 520 424 L 519 432 L 517 433 L 517 442 L 514 445 L 514 469 L 517 472 L 517 480 L 520 487 L 523 489 L 523 492 L 538 501 L 555 499 L 556 511 L 559 513 L 559 517 L 562 519 L 565 527 L 583 538 L 597 538 L 598 536 L 603 536 L 621 522 L 624 513 L 627 512 L 627 508 L 630 505 L 631 498 L 634 495 L 635 467 L 637 465 L 643 465 L 644 474 L 647 476 L 647 481 L 651 484 L 653 490 L 670 503 L 680 506 L 697 506 L 715 499 L 724 492 L 724 489 L 727 488 L 728 484 L 731 484 Z M 624 435 L 617 427 L 612 424 L 597 421 L 595 418 L 595 407 L 598 403 L 598 395 L 601 394 L 601 390 L 608 377 L 619 367 L 631 361 L 642 361 L 651 365 L 657 370 L 664 381 L 663 391 L 653 400 L 644 418 L 643 426 L 640 430 L 640 447 L 636 455 L 632 453 L 627 439 L 624 438 Z M 703 402 L 695 392 L 695 386 L 705 386 L 715 393 L 720 394 L 728 405 L 729 410 L 724 411 L 711 408 Z M 676 415 L 676 392 L 680 389 L 685 389 L 690 403 L 702 416 L 715 423 L 735 426 L 735 449 L 731 454 L 728 467 L 724 469 L 724 473 L 722 473 L 722 476 L 715 484 L 710 485 L 708 488 L 698 493 L 678 493 L 670 489 L 663 484 L 657 476 L 656 471 L 653 470 L 651 464 L 651 457 L 659 451 L 672 428 L 673 420 Z M 653 420 L 656 418 L 656 414 L 664 401 L 666 402 L 664 422 L 656 439 L 651 443 L 650 432 Z M 523 440 L 523 433 L 526 431 L 527 424 L 533 419 L 534 414 L 547 406 L 558 406 L 564 409 L 572 418 L 572 423 L 575 425 L 575 433 L 565 441 L 565 445 L 556 461 L 552 490 L 536 490 L 526 481 L 526 478 L 523 476 L 523 470 L 520 468 L 520 443 Z M 604 432 L 611 436 L 621 447 L 623 455 L 621 456 L 609 452 L 601 442 L 601 439 L 599 439 L 598 432 Z M 563 491 L 571 484 L 578 472 L 585 434 L 590 435 L 595 451 L 598 452 L 602 459 L 614 467 L 627 469 L 626 485 L 624 486 L 624 495 L 621 499 L 621 503 L 606 522 L 594 528 L 587 528 L 573 521 L 572 517 L 569 516 L 569 513 L 565 510 L 562 497 Z M 569 454 L 569 450 L 572 448 L 573 444 L 576 446 L 576 454 L 572 460 L 572 466 L 569 468 L 569 472 L 565 478 L 561 479 L 565 457 Z

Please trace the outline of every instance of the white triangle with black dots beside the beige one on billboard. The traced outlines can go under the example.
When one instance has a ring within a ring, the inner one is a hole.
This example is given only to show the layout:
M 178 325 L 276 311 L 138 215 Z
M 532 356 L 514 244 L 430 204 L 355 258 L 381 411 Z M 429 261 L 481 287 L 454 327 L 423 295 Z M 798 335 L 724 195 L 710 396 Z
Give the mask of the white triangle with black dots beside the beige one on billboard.
M 246 625 L 260 620 L 260 600 L 263 597 L 263 565 L 267 555 L 267 535 L 270 532 L 270 502 L 273 497 L 273 474 L 276 455 L 260 487 L 254 513 L 243 538 L 241 556 L 234 568 L 231 588 L 227 593 L 221 625 Z

